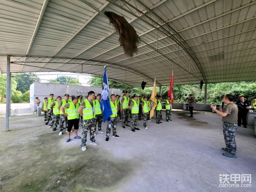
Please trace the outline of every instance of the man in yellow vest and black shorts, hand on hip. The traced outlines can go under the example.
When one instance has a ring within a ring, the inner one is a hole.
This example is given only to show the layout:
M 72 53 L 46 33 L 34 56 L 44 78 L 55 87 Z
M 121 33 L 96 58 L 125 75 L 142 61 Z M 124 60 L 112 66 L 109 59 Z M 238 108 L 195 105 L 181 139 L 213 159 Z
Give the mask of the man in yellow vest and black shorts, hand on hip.
M 74 126 L 74 130 L 75 130 L 75 137 L 74 139 L 81 139 L 80 136 L 77 135 L 77 131 L 79 128 L 79 114 L 78 114 L 78 108 L 79 108 L 79 104 L 78 102 L 78 97 L 79 96 L 75 96 L 72 95 L 71 96 L 71 102 L 68 102 L 66 105 L 64 105 L 61 110 L 64 116 L 68 117 L 68 138 L 66 140 L 66 142 L 70 141 L 70 133 L 71 133 L 71 129 Z M 67 109 L 67 114 L 65 112 L 65 109 Z

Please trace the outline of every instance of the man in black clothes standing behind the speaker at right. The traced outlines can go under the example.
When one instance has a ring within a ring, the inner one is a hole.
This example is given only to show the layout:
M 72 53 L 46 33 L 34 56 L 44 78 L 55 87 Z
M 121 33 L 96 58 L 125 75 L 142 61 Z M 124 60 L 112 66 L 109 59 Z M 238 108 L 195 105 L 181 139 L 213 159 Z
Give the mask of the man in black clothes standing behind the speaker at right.
M 247 100 L 244 100 L 244 96 L 240 96 L 239 100 L 240 101 L 236 102 L 238 108 L 237 124 L 238 126 L 241 126 L 241 124 L 243 124 L 244 127 L 247 128 L 247 113 L 249 112 L 249 108 L 251 108 L 251 105 Z

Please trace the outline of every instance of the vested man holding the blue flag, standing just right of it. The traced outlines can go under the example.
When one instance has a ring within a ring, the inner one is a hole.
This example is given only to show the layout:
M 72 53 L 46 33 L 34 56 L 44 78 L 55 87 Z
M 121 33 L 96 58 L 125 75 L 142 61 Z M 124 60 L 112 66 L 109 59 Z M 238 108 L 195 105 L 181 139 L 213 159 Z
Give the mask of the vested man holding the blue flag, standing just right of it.
M 111 97 L 110 107 L 111 107 L 111 110 L 112 110 L 112 115 L 109 117 L 108 124 L 107 124 L 106 142 L 108 142 L 108 140 L 109 140 L 109 135 L 110 135 L 110 132 L 111 132 L 111 126 L 112 126 L 113 137 L 119 137 L 116 134 L 117 110 L 118 110 L 118 106 L 117 106 L 117 102 L 116 102 L 116 96 L 114 94 L 112 94 L 110 97 Z

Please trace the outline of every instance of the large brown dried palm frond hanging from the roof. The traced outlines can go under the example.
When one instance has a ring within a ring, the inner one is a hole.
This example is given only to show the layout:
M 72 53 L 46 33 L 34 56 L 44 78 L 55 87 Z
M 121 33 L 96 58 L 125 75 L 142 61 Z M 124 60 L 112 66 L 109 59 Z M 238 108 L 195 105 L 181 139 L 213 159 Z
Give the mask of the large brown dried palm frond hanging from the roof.
M 138 52 L 140 37 L 135 29 L 122 17 L 114 12 L 105 11 L 104 14 L 109 18 L 109 23 L 113 25 L 116 32 L 119 33 L 119 43 L 128 57 Z

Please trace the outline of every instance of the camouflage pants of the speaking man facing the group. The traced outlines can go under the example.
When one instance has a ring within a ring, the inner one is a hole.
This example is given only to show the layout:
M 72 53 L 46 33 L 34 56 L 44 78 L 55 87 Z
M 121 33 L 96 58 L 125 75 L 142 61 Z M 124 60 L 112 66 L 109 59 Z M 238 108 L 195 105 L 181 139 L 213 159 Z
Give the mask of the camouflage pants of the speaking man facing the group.
M 236 135 L 237 124 L 228 124 L 223 123 L 223 134 L 224 140 L 228 149 L 228 152 L 231 154 L 236 154 Z

